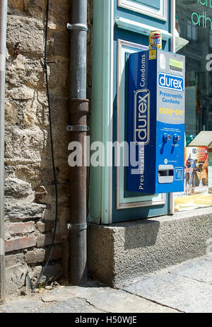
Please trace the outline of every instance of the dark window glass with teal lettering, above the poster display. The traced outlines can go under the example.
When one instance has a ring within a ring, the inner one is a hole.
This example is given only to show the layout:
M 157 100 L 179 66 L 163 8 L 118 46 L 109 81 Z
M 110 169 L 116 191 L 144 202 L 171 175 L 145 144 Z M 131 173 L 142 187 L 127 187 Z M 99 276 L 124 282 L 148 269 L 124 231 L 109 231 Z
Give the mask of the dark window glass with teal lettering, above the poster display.
M 212 130 L 212 1 L 177 0 L 176 13 L 179 36 L 189 41 L 177 51 L 186 57 L 188 144 L 199 132 Z

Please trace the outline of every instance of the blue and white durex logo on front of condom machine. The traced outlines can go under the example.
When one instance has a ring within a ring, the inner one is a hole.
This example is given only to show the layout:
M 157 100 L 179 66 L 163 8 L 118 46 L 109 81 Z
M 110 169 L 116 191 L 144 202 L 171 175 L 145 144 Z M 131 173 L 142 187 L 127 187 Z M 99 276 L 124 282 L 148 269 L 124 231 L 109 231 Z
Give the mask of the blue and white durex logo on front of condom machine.
M 184 78 L 180 76 L 159 73 L 158 86 L 175 91 L 184 91 Z

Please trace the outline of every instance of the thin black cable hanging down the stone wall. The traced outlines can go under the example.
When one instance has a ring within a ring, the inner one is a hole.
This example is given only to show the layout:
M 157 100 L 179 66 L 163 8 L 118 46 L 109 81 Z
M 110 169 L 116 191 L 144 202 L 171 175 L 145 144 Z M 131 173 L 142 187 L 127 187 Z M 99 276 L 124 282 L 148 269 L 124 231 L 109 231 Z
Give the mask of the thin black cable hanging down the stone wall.
M 48 39 L 48 23 L 49 23 L 49 0 L 47 0 L 47 16 L 46 16 L 46 30 L 45 30 L 45 76 L 46 76 L 46 86 L 47 86 L 47 100 L 48 100 L 48 108 L 49 108 L 49 132 L 50 132 L 50 142 L 51 142 L 51 151 L 52 151 L 52 168 L 53 168 L 53 174 L 54 174 L 54 186 L 55 186 L 55 199 L 56 199 L 56 206 L 55 206 L 55 219 L 54 219 L 54 232 L 52 237 L 52 245 L 49 253 L 49 257 L 47 259 L 47 263 L 42 268 L 42 271 L 40 272 L 40 276 L 37 279 L 37 282 L 35 283 L 35 286 L 33 287 L 32 293 L 35 291 L 35 288 L 37 287 L 37 284 L 40 282 L 42 275 L 44 274 L 47 265 L 49 264 L 49 260 L 52 256 L 53 246 L 54 246 L 54 240 L 56 236 L 56 230 L 57 230 L 57 212 L 58 212 L 58 191 L 57 191 L 57 176 L 56 176 L 56 169 L 54 164 L 54 144 L 53 144 L 53 137 L 52 137 L 52 117 L 51 117 L 51 105 L 50 105 L 50 97 L 49 97 L 49 79 L 48 79 L 48 72 L 47 72 L 47 39 Z

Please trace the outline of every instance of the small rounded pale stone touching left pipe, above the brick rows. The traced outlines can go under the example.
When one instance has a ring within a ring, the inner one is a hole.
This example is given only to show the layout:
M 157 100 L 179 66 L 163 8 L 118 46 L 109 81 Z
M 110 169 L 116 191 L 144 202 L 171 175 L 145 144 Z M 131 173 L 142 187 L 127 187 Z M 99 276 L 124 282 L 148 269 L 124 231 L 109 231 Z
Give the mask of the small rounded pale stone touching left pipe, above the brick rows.
M 33 195 L 31 185 L 18 178 L 6 178 L 4 183 L 4 194 L 6 197 L 20 199 Z

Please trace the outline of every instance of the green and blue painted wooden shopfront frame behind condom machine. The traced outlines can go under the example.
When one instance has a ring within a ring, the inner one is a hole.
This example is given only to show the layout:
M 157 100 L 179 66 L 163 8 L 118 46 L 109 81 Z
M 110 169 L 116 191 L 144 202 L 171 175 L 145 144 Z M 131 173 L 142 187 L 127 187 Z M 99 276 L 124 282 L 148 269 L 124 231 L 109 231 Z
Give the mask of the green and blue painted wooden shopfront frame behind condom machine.
M 128 54 L 147 49 L 148 33 L 153 29 L 160 29 L 163 47 L 171 50 L 174 1 L 155 1 L 155 8 L 153 2 L 145 6 L 146 1 L 94 0 L 90 144 L 102 142 L 107 149 L 107 142 L 125 139 Z M 109 154 L 107 151 L 107 161 L 113 159 L 112 150 Z M 169 198 L 127 193 L 122 165 L 90 167 L 91 222 L 112 224 L 164 215 L 169 212 Z

